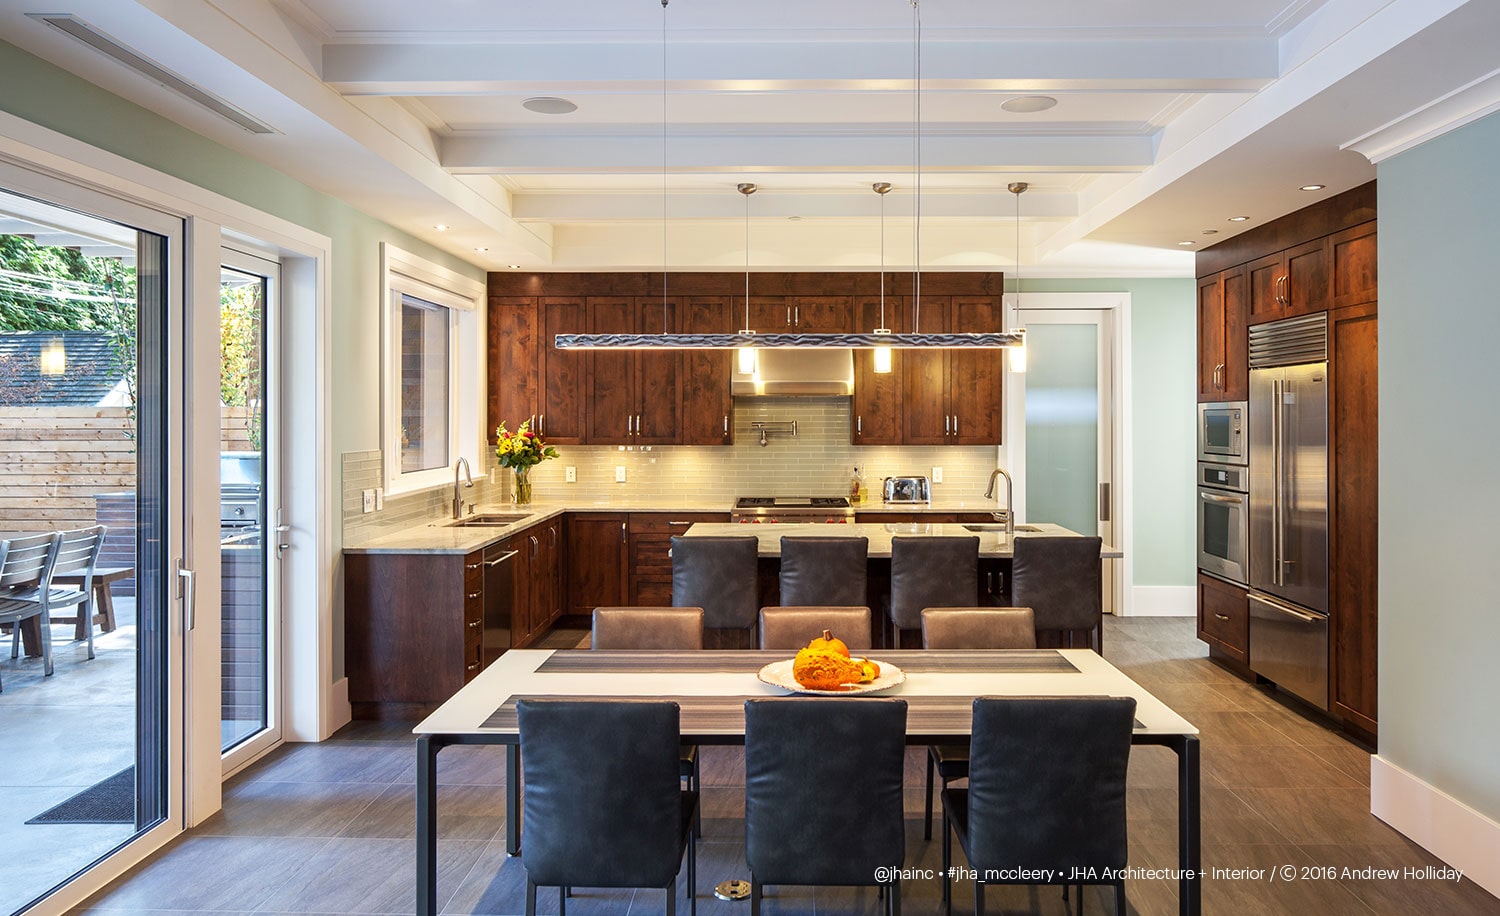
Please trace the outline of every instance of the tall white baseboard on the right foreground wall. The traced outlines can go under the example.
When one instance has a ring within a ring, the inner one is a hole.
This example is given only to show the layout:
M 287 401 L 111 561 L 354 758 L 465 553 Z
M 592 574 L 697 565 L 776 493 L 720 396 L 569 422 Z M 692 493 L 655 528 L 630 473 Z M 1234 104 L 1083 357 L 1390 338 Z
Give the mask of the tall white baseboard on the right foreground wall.
M 1500 897 L 1500 823 L 1378 754 L 1370 759 L 1370 813 Z

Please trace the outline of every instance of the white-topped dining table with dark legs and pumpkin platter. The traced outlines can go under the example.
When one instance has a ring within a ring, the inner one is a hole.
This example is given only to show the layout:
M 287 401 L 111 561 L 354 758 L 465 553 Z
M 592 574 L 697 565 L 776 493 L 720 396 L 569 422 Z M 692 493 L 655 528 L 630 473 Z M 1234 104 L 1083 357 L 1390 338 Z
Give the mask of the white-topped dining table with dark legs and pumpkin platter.
M 506 852 L 520 852 L 520 732 L 524 699 L 652 699 L 680 709 L 681 739 L 742 745 L 744 702 L 789 696 L 760 679 L 784 667 L 776 651 L 513 649 L 501 655 L 412 730 L 417 747 L 417 913 L 438 910 L 438 754 L 453 745 L 506 750 Z M 1092 649 L 890 649 L 876 661 L 903 679 L 866 696 L 906 700 L 906 742 L 966 744 L 976 697 L 1134 697 L 1132 745 L 1170 748 L 1178 760 L 1178 904 L 1202 912 L 1198 732 Z M 780 664 L 778 664 L 780 663 Z M 770 678 L 776 681 L 776 678 Z

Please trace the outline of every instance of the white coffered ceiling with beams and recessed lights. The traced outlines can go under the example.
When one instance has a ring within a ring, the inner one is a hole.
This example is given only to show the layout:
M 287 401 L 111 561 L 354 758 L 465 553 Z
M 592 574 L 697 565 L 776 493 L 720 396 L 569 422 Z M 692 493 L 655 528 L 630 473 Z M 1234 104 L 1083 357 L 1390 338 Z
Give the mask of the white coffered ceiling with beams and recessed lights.
M 22 15 L 60 10 L 278 133 Z M 742 265 L 740 181 L 753 267 L 873 267 L 884 180 L 888 265 L 920 208 L 924 265 L 1008 270 L 1023 180 L 1024 276 L 1191 276 L 1197 247 L 1500 106 L 1492 0 L 920 13 L 920 94 L 910 0 L 0 0 L 0 37 L 490 268 Z M 1000 108 L 1022 94 L 1058 105 Z

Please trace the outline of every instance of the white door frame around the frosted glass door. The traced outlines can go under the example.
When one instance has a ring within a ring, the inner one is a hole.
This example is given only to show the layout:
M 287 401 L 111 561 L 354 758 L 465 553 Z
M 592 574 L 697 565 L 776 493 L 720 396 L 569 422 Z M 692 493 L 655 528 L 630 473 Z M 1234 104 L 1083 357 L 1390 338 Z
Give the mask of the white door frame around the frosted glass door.
M 1124 561 L 1106 564 L 1104 607 L 1116 615 L 1131 613 L 1131 366 L 1130 366 L 1130 294 L 1128 292 L 1026 292 L 1022 294 L 1020 324 L 1040 324 L 1052 315 L 1056 324 L 1068 322 L 1066 312 L 1110 312 L 1108 333 L 1101 333 L 1101 369 L 1107 372 L 1110 391 L 1100 391 L 1101 433 L 1108 427 L 1108 441 L 1100 436 L 1100 469 L 1108 469 L 1110 519 L 1113 534 L 1106 544 L 1119 547 Z M 1083 319 L 1080 319 L 1083 321 Z M 1092 322 L 1092 319 L 1088 319 Z M 1026 519 L 1026 375 L 1010 372 L 1005 385 L 1005 445 L 1000 462 L 1017 481 L 1017 517 Z M 1113 540 L 1112 540 L 1113 538 Z

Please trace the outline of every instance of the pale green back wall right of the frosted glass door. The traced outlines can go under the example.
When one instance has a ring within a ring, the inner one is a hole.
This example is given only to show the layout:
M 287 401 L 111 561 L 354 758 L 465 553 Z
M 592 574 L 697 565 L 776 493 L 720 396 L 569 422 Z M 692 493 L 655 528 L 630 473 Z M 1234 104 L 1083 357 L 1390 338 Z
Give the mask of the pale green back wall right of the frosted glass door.
M 1198 349 L 1192 279 L 1026 280 L 1023 288 L 1026 292 L 1130 294 L 1134 583 L 1192 586 L 1197 576 L 1192 423 Z M 1150 613 L 1150 609 L 1136 612 Z

